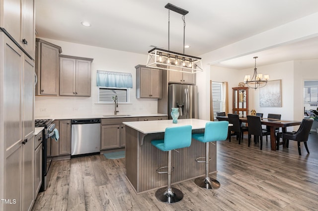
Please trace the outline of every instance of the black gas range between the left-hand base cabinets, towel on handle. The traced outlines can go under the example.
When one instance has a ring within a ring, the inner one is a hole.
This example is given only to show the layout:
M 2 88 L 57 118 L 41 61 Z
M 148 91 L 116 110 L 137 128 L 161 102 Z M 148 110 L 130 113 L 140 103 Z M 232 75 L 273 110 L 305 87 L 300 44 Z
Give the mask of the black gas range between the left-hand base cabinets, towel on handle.
M 51 177 L 52 156 L 51 156 L 51 137 L 55 134 L 55 124 L 52 119 L 35 120 L 35 127 L 44 127 L 42 141 L 42 185 L 40 191 L 45 191 Z

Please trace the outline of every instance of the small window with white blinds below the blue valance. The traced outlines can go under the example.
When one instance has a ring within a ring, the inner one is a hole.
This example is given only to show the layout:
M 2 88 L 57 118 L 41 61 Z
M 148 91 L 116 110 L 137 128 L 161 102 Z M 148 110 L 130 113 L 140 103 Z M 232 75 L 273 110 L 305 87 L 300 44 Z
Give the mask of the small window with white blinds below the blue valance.
M 98 103 L 114 103 L 115 95 L 118 103 L 129 103 L 129 88 L 98 87 Z

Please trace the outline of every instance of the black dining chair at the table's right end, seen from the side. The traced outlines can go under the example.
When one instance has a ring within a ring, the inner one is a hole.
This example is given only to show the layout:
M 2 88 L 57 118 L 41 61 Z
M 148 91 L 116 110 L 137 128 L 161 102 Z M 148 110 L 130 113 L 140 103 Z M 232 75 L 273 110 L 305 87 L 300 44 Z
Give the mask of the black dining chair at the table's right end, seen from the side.
M 312 128 L 313 122 L 314 122 L 313 119 L 303 119 L 299 129 L 296 132 L 277 133 L 277 136 L 276 136 L 277 150 L 279 149 L 279 145 L 284 142 L 284 139 L 286 139 L 287 148 L 289 146 L 289 140 L 297 141 L 298 153 L 299 155 L 302 155 L 301 149 L 300 149 L 300 142 L 304 142 L 307 153 L 309 153 L 307 141 L 308 141 L 309 133 Z M 283 139 L 283 142 L 280 142 L 280 138 Z

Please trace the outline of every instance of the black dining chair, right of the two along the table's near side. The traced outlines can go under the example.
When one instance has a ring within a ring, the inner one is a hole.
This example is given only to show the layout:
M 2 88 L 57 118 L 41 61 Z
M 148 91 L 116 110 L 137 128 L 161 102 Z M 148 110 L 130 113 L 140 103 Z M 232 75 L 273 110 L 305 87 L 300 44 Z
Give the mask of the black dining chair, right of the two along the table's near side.
M 247 115 L 248 124 L 248 146 L 250 145 L 251 135 L 254 136 L 254 143 L 257 142 L 259 137 L 263 136 L 262 125 L 260 121 L 260 116 Z M 260 150 L 262 150 L 263 141 L 260 139 Z

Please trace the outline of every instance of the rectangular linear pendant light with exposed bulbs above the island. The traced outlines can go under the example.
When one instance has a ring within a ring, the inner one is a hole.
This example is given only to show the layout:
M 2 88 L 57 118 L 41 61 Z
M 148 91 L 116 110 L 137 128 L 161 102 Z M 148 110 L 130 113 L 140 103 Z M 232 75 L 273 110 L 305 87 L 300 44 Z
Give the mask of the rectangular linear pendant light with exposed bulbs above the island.
M 148 52 L 147 67 L 163 70 L 196 73 L 203 71 L 201 58 L 184 54 L 185 15 L 187 10 L 179 8 L 171 3 L 165 6 L 168 12 L 168 50 L 153 48 Z M 182 15 L 183 20 L 183 54 L 170 51 L 170 10 Z

